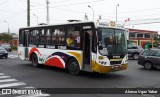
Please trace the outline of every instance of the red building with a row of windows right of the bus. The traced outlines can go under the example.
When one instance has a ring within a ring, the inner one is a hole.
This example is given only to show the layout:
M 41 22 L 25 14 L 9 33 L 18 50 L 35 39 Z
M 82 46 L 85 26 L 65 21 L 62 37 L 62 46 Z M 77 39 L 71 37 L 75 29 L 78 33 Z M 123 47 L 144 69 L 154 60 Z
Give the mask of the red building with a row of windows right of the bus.
M 141 45 L 146 48 L 154 43 L 154 38 L 158 36 L 158 31 L 129 29 L 129 43 Z

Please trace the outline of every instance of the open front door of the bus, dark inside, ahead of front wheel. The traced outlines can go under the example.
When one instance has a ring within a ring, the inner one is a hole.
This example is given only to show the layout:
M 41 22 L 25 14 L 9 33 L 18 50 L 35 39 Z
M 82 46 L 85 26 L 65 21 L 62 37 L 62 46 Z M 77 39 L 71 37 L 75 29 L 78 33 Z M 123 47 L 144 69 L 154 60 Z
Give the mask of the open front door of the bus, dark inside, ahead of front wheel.
M 91 70 L 92 30 L 84 30 L 83 38 L 83 69 Z

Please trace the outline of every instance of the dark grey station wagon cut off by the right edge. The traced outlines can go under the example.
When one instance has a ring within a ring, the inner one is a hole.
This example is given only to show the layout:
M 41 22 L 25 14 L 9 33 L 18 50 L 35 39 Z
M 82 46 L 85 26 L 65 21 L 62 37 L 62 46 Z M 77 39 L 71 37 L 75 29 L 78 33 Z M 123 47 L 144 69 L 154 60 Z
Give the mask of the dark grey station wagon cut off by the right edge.
M 145 69 L 160 69 L 160 49 L 145 50 L 139 55 L 138 64 Z

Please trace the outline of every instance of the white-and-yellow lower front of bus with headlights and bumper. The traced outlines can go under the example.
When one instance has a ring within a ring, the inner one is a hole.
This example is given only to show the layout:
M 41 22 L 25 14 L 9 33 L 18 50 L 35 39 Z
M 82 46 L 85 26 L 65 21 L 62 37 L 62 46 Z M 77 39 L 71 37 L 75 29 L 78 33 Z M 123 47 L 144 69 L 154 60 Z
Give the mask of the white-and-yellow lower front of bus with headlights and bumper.
M 96 56 L 96 58 L 94 57 Z M 96 60 L 96 61 L 95 61 Z M 112 65 L 111 62 L 120 61 L 119 64 Z M 97 54 L 92 54 L 92 72 L 99 73 L 109 73 L 120 70 L 125 70 L 128 67 L 128 55 L 126 54 L 124 58 L 113 58 L 108 59 L 107 56 L 102 56 L 97 52 Z

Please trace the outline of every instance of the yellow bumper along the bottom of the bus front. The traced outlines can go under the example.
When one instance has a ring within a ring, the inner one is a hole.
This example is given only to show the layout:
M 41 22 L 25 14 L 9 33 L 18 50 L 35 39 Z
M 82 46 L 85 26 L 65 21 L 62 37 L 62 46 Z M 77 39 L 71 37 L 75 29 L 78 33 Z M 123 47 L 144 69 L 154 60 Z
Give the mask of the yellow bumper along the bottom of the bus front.
M 127 69 L 127 67 L 128 67 L 128 64 L 113 65 L 113 66 L 101 66 L 99 64 L 96 64 L 93 66 L 92 71 L 98 72 L 98 73 L 109 73 L 109 72 L 125 70 Z

